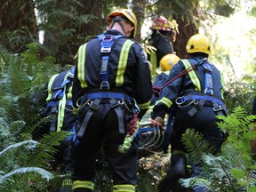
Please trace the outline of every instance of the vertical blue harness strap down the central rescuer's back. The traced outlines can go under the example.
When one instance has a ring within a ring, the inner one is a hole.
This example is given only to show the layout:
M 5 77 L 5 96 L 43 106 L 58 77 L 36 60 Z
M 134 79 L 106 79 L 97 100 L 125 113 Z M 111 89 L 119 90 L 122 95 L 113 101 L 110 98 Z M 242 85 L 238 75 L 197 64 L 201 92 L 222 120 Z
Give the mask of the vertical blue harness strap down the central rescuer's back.
M 100 89 L 103 90 L 109 90 L 109 83 L 108 83 L 108 59 L 109 54 L 112 49 L 112 45 L 115 42 L 115 39 L 121 38 L 122 35 L 104 35 L 101 34 L 97 36 L 100 39 L 100 45 L 101 45 L 101 68 L 100 68 L 100 76 L 101 76 L 101 84 Z

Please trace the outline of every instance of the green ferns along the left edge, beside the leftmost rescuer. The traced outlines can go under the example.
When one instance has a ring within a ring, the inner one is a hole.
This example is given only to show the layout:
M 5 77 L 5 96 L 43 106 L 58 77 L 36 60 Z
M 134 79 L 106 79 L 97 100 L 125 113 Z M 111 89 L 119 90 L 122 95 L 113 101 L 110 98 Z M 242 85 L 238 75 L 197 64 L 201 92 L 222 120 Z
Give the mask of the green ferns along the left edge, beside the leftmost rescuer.
M 61 70 L 51 58 L 40 59 L 39 46 L 28 44 L 20 56 L 0 49 L 0 191 L 49 191 L 51 185 L 57 190 L 57 183 L 64 180 L 55 177 L 49 162 L 67 132 L 51 132 L 39 142 L 31 140 L 31 132 L 41 121 L 30 100 Z

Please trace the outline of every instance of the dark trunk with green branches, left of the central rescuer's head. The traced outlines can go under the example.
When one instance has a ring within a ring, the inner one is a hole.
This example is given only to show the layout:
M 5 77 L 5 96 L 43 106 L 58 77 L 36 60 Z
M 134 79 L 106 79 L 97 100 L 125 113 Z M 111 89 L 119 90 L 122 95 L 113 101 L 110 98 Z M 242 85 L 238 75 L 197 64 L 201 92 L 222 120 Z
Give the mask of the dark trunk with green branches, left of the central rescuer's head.
M 59 0 L 50 12 L 44 11 L 48 15 L 44 28 L 45 52 L 53 55 L 55 62 L 63 66 L 73 64 L 79 45 L 101 32 L 101 0 L 79 0 L 79 4 Z M 67 13 L 63 16 L 57 14 L 62 11 Z

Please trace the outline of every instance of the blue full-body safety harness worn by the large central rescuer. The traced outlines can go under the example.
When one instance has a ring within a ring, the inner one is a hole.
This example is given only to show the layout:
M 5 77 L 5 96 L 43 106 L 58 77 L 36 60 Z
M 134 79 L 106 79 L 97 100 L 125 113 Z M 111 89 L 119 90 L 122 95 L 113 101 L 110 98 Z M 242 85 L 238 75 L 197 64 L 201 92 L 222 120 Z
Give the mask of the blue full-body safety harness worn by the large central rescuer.
M 126 107 L 124 100 L 127 100 L 128 102 L 133 102 L 133 103 L 135 102 L 135 100 L 133 100 L 127 94 L 124 94 L 122 92 L 110 92 L 109 83 L 108 83 L 109 55 L 116 39 L 119 39 L 121 37 L 123 36 L 122 35 L 112 36 L 112 35 L 104 35 L 104 34 L 101 34 L 100 36 L 98 36 L 98 39 L 100 40 L 100 45 L 101 45 L 100 92 L 86 93 L 81 98 L 81 103 L 89 105 L 90 109 L 86 113 L 86 116 L 84 116 L 84 120 L 80 127 L 80 130 L 76 134 L 77 138 L 83 137 L 87 124 L 89 123 L 89 120 L 92 117 L 93 113 L 97 111 L 98 108 L 100 107 L 100 102 L 102 99 L 109 99 L 108 102 L 110 104 L 110 107 L 113 108 L 116 112 L 116 116 L 119 124 L 119 132 L 124 134 L 124 116 L 123 116 L 122 108 L 120 107 L 123 105 L 125 105 Z M 133 113 L 137 113 L 139 110 L 140 110 L 139 108 L 133 108 Z

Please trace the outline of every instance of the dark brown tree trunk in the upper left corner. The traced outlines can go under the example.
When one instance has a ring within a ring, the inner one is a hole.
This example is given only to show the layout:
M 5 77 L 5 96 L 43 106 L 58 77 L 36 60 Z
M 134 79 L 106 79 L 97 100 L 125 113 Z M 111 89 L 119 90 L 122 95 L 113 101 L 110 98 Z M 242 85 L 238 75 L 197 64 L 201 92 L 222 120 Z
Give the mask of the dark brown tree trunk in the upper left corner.
M 22 52 L 38 40 L 33 0 L 1 0 L 0 8 L 0 41 L 8 51 Z

